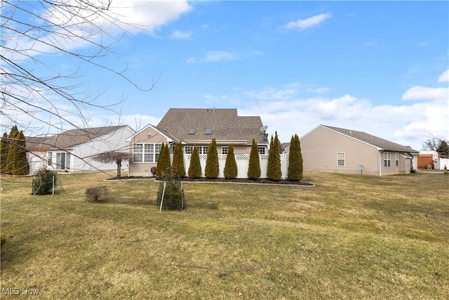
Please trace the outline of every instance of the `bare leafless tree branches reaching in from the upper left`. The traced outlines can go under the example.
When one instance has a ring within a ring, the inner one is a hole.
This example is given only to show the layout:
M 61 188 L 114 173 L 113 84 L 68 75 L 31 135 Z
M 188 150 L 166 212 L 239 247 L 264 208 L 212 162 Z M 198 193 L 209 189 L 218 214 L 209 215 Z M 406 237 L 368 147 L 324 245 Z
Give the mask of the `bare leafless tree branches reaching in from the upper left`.
M 119 3 L 119 2 L 118 2 Z M 114 46 L 129 28 L 113 12 L 112 0 L 43 0 L 1 2 L 0 119 L 3 131 L 18 124 L 27 132 L 62 131 L 86 127 L 89 110 L 117 112 L 114 103 L 100 104 L 83 83 L 83 66 L 112 72 L 135 89 L 149 91 L 130 79 L 126 63 Z M 126 29 L 126 30 L 125 30 Z M 48 56 L 67 56 L 78 67 L 63 72 Z M 126 53 L 123 54 L 123 56 Z M 121 67 L 102 58 L 116 58 Z

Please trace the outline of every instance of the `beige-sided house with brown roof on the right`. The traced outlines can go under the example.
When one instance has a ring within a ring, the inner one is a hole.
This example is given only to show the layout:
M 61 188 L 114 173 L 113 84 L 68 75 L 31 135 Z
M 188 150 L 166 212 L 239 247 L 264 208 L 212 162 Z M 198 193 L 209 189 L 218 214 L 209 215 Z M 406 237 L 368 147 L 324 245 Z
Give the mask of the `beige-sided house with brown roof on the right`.
M 300 141 L 304 171 L 384 176 L 417 167 L 417 150 L 361 131 L 319 125 Z

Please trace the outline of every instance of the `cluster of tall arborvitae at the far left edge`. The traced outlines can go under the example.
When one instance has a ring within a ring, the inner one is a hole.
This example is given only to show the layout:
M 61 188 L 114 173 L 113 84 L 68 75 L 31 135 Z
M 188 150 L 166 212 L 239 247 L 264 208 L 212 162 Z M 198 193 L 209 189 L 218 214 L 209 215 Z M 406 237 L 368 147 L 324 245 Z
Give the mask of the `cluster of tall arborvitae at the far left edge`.
M 4 133 L 0 141 L 0 173 L 28 175 L 27 142 L 23 131 L 13 126 L 9 134 Z

